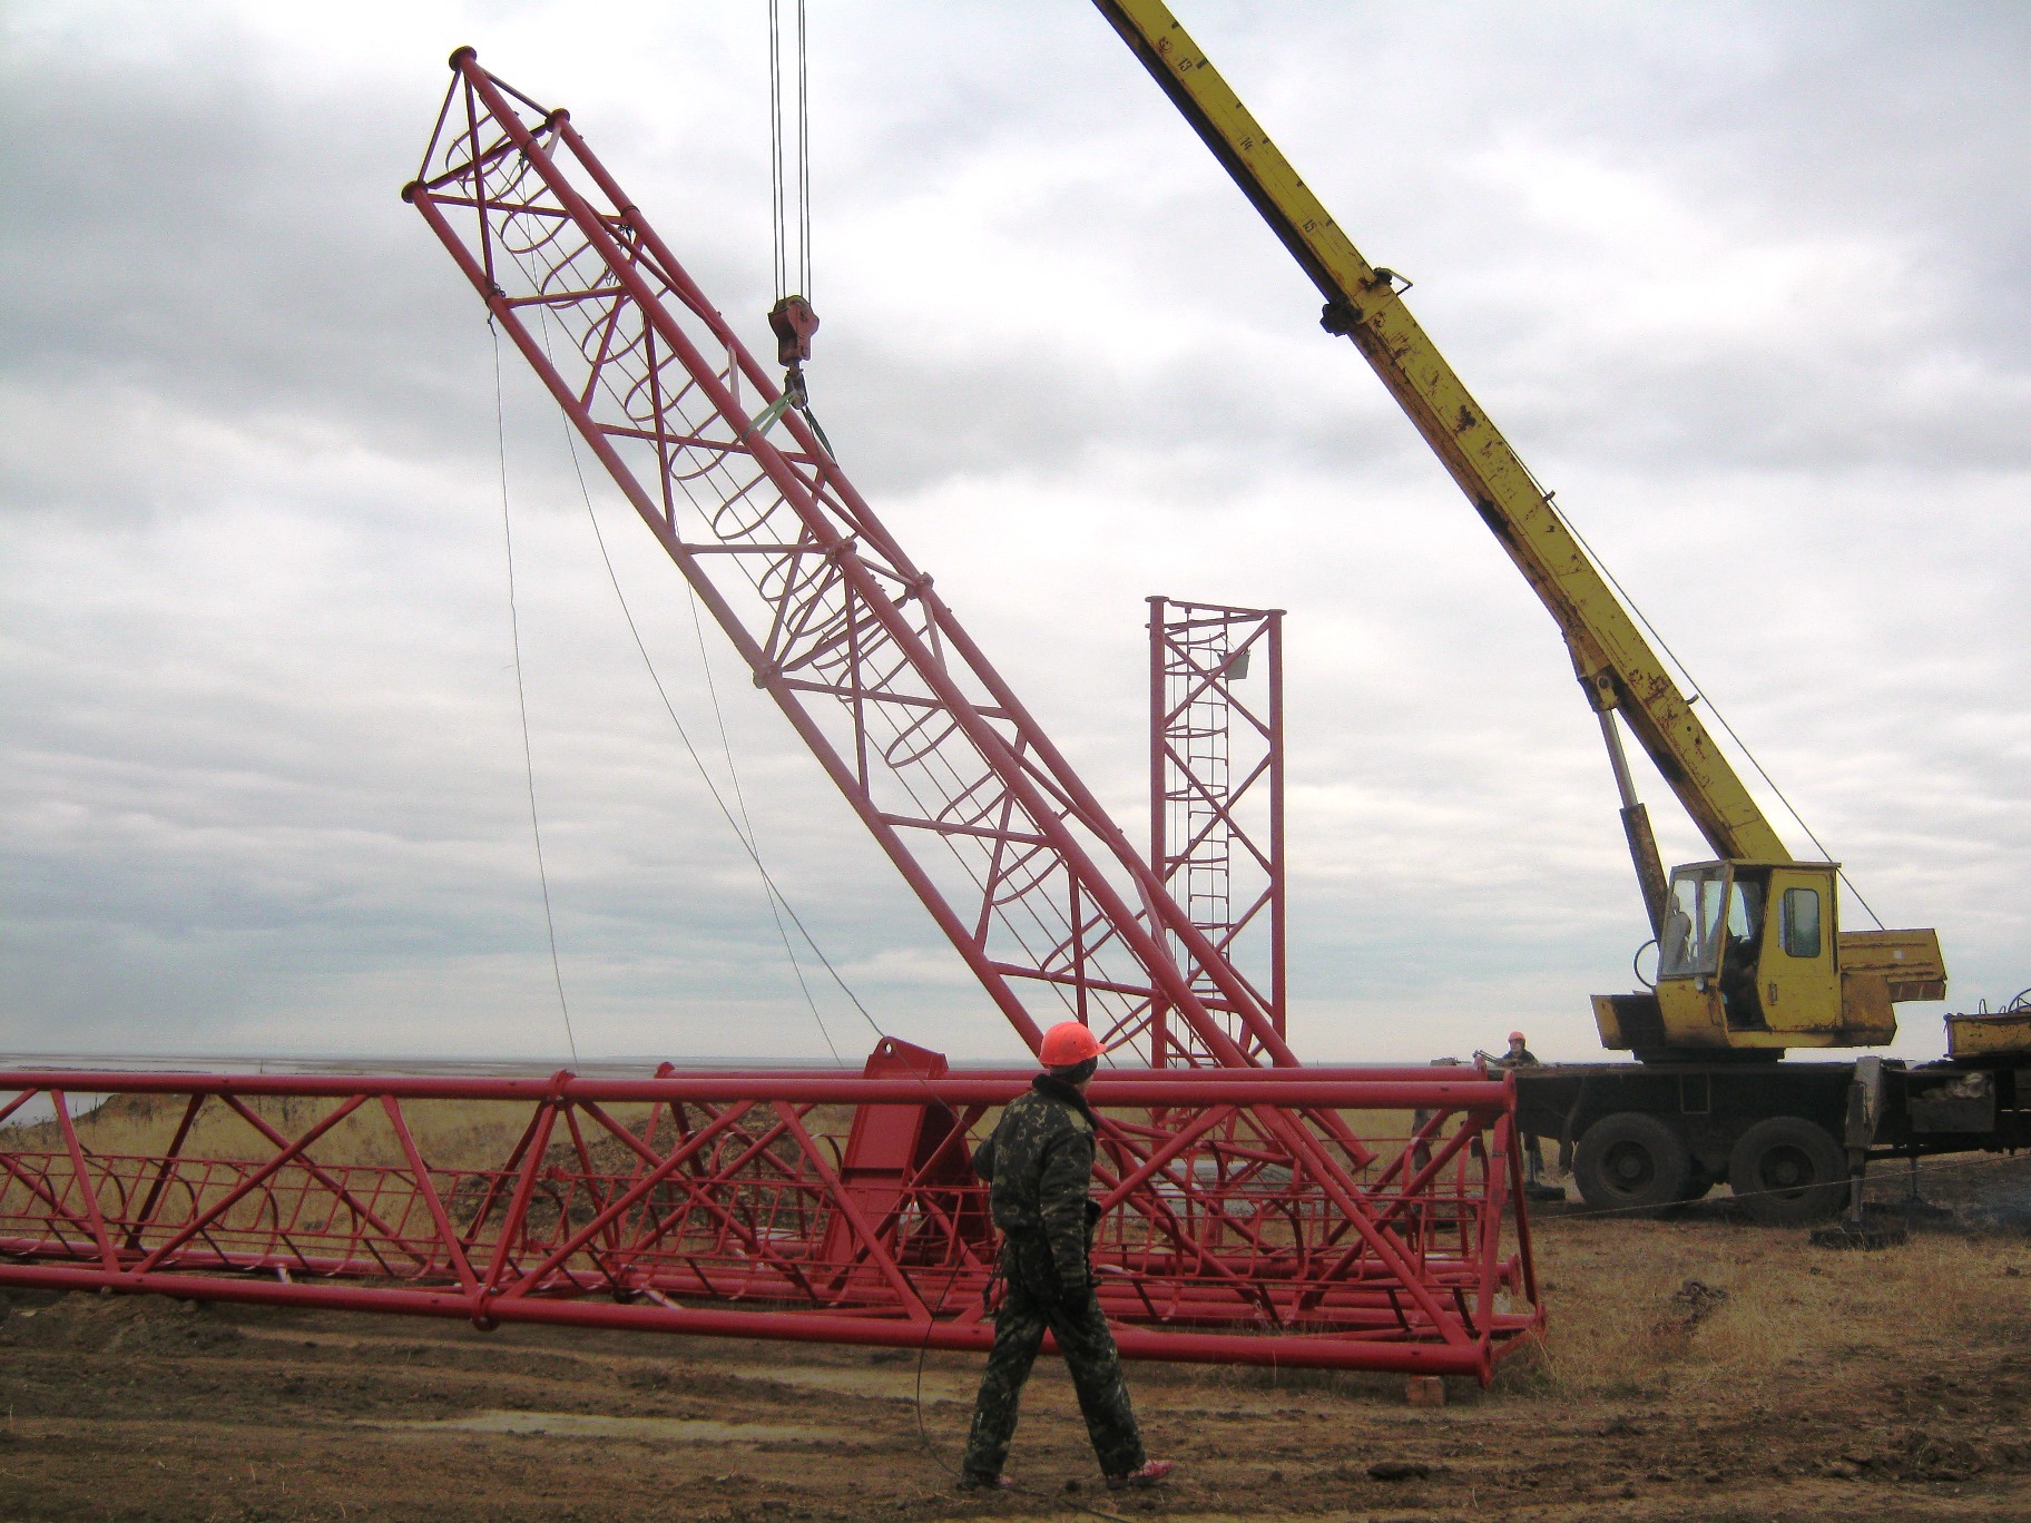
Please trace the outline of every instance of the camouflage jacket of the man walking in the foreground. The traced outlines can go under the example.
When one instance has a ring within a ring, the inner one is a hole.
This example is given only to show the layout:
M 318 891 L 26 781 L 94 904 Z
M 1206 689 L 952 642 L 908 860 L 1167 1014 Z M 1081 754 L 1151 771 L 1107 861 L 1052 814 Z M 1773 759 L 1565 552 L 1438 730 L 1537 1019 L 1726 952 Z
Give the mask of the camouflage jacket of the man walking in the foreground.
M 1038 1074 L 973 1153 L 993 1188 L 995 1227 L 1050 1243 L 1058 1285 L 1087 1283 L 1087 1186 L 1093 1182 L 1093 1111 L 1062 1078 Z

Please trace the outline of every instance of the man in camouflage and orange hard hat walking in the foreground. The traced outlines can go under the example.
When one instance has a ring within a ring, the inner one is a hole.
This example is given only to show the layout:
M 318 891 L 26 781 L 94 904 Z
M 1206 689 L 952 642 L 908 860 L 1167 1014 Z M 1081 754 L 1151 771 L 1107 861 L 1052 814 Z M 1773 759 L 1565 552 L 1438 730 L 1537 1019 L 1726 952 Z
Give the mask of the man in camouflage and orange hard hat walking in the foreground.
M 1046 1330 L 1072 1373 L 1078 1411 L 1107 1484 L 1154 1486 L 1172 1470 L 1170 1460 L 1143 1454 L 1121 1356 L 1093 1294 L 1089 1253 L 1101 1208 L 1087 1196 L 1097 1123 L 1085 1088 L 1101 1066 L 1101 1052 L 1099 1040 L 1078 1021 L 1052 1025 L 1040 1052 L 1048 1072 L 1009 1101 L 993 1135 L 973 1155 L 973 1170 L 991 1184 L 989 1204 L 1003 1235 L 1005 1294 L 961 1462 L 963 1491 L 1013 1484 L 1001 1466 Z

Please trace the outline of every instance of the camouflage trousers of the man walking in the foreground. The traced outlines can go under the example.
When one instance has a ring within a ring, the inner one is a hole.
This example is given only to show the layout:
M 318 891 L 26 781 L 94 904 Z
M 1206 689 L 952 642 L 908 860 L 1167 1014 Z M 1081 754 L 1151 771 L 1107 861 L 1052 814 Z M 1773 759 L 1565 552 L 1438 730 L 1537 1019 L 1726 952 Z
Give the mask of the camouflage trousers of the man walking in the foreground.
M 967 1434 L 965 1470 L 975 1476 L 1001 1474 L 1016 1438 L 1016 1409 L 1022 1387 L 1030 1379 L 1044 1332 L 1058 1340 L 1064 1367 L 1078 1393 L 1078 1411 L 1087 1419 L 1087 1436 L 1101 1460 L 1101 1472 L 1125 1476 L 1143 1460 L 1141 1434 L 1135 1428 L 1135 1407 L 1121 1379 L 1121 1356 L 1115 1336 L 1089 1281 L 1076 1296 L 1058 1296 L 1058 1279 L 1050 1267 L 1050 1249 L 1042 1241 L 1009 1241 L 1001 1249 L 1001 1273 L 1007 1296 L 995 1314 L 995 1346 L 981 1377 L 981 1395 L 973 1405 L 973 1430 Z

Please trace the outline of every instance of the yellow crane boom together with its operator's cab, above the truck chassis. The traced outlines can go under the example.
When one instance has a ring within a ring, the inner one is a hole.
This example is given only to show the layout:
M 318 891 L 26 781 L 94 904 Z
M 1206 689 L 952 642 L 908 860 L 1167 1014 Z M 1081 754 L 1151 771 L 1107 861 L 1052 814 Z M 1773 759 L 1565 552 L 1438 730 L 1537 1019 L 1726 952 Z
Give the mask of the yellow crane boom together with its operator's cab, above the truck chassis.
M 1609 747 L 1659 952 L 1647 993 L 1594 995 L 1602 1044 L 1653 1060 L 1866 1048 L 1897 1034 L 1897 1001 L 1944 999 L 1936 932 L 1840 930 L 1840 865 L 1799 861 L 1785 849 L 1552 493 L 1418 327 L 1395 272 L 1361 256 L 1162 4 L 1095 4 L 1318 286 L 1322 327 L 1353 339 L 1566 638 Z M 1623 725 L 1714 861 L 1665 879 L 1629 776 Z

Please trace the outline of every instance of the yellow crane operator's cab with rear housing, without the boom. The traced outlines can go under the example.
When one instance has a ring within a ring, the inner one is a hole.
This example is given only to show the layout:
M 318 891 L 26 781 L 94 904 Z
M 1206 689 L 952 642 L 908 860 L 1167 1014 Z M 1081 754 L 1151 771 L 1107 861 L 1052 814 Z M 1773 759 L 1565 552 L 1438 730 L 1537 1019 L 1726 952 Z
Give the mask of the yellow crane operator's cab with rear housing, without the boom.
M 1842 932 L 1838 863 L 1678 867 L 1657 928 L 1657 983 L 1594 995 L 1607 1048 L 1643 1056 L 1873 1048 L 1895 1001 L 1944 999 L 1931 930 Z

